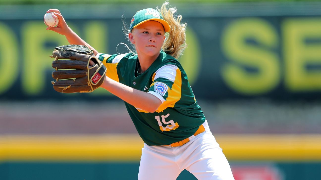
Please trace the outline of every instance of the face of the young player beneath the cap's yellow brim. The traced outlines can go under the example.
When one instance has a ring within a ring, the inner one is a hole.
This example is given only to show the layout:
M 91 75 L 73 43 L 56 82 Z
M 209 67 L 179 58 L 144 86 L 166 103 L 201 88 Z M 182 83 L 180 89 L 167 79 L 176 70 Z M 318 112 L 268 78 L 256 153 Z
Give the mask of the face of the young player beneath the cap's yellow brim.
M 158 56 L 164 43 L 165 30 L 160 22 L 150 20 L 132 30 L 129 39 L 135 44 L 137 54 Z

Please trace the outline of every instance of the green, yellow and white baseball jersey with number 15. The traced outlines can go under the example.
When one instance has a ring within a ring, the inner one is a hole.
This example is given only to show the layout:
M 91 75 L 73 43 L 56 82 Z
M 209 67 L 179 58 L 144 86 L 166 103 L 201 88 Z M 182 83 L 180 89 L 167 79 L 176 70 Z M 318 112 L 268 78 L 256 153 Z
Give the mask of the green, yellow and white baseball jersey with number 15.
M 138 56 L 97 54 L 107 68 L 106 76 L 134 89 L 155 95 L 162 104 L 147 112 L 125 102 L 138 134 L 147 145 L 169 145 L 193 135 L 205 121 L 180 63 L 160 51 L 143 73 L 138 73 Z M 148 103 L 148 102 L 145 102 Z

